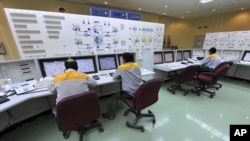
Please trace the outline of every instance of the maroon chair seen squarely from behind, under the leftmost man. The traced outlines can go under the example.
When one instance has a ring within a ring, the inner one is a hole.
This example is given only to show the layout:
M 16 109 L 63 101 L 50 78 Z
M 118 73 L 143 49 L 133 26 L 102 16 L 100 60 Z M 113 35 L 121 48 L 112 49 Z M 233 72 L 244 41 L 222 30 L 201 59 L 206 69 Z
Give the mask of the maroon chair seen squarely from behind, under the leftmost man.
M 104 131 L 97 121 L 99 117 L 100 109 L 94 91 L 66 97 L 56 105 L 57 125 L 65 139 L 69 137 L 71 130 L 79 132 L 79 141 L 82 141 L 83 135 L 94 127 L 98 127 L 100 132 Z

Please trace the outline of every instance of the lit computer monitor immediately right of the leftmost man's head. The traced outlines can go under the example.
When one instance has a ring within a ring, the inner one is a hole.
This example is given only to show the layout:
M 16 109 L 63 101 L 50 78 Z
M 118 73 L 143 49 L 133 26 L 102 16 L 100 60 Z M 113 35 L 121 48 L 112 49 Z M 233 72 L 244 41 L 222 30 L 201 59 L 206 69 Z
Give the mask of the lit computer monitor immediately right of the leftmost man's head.
M 78 71 L 87 74 L 97 73 L 95 56 L 72 57 L 78 65 Z

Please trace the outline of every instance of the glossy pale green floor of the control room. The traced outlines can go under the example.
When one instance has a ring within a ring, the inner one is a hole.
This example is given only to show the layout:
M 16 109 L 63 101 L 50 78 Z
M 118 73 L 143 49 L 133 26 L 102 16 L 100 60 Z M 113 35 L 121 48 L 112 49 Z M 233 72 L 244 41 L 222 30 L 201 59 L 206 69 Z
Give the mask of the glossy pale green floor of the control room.
M 229 141 L 230 124 L 250 124 L 249 83 L 224 79 L 223 88 L 211 99 L 208 95 L 183 96 L 166 91 L 171 84 L 166 82 L 160 90 L 159 101 L 149 107 L 156 116 L 152 126 L 149 119 L 139 123 L 145 132 L 129 129 L 125 121 L 134 116 L 123 116 L 126 105 L 120 104 L 115 120 L 100 118 L 104 132 L 91 130 L 84 141 Z M 110 98 L 100 100 L 102 111 L 106 111 Z M 78 141 L 79 135 L 72 132 L 67 141 Z M 52 114 L 44 114 L 25 122 L 5 133 L 0 141 L 63 141 Z

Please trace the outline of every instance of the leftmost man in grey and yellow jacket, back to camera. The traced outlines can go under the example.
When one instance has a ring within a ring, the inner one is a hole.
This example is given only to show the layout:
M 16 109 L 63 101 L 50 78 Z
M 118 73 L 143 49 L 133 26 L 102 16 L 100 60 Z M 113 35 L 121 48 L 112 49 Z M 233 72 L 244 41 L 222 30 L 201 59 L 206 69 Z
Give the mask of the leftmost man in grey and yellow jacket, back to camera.
M 92 84 L 87 74 L 77 71 L 78 65 L 75 60 L 68 59 L 64 65 L 64 73 L 55 76 L 48 86 L 49 91 L 57 93 L 56 102 L 65 97 L 88 91 L 89 84 Z

